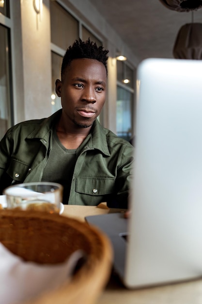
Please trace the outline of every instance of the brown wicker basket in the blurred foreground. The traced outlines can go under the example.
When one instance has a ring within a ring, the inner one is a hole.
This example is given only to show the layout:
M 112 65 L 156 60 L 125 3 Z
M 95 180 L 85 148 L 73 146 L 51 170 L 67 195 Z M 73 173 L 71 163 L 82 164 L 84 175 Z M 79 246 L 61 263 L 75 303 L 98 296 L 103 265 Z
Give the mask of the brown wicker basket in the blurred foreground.
M 0 242 L 24 260 L 41 264 L 64 262 L 78 249 L 87 255 L 70 282 L 30 304 L 93 304 L 109 279 L 111 245 L 87 223 L 57 214 L 1 210 Z

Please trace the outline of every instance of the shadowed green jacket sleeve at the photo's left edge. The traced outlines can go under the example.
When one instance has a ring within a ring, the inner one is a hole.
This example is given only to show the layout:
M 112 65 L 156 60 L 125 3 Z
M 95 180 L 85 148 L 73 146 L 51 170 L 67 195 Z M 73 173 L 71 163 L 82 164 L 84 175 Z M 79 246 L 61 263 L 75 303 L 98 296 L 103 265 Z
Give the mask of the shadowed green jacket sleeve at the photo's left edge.
M 10 186 L 12 178 L 6 173 L 12 151 L 12 140 L 10 131 L 0 141 L 0 195 L 3 189 Z

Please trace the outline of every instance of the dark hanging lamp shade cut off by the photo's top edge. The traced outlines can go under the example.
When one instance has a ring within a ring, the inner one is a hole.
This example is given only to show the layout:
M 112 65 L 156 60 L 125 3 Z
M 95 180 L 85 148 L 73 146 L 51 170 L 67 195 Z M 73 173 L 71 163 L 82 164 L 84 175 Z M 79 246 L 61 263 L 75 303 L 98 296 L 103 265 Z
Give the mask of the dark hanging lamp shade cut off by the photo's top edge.
M 202 0 L 159 0 L 163 5 L 173 11 L 189 12 L 202 8 Z

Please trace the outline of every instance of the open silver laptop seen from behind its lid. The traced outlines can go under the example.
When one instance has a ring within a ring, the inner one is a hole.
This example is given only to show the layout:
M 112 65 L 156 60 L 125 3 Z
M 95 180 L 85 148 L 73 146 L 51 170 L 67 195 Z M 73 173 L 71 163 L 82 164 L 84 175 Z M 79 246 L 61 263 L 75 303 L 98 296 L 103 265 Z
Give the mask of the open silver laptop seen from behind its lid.
M 131 217 L 87 217 L 129 288 L 202 276 L 202 61 L 146 59 L 137 86 Z

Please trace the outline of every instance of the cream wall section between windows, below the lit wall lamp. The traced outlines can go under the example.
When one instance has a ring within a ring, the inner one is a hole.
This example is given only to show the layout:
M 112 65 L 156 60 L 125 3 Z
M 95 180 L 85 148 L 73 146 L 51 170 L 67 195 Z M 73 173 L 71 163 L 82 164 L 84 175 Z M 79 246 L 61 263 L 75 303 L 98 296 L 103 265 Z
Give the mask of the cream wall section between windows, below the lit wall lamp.
M 51 57 L 49 0 L 43 0 L 43 12 L 40 15 L 36 14 L 32 0 L 14 2 L 14 35 L 18 37 L 13 41 L 13 49 L 17 49 L 14 58 L 14 109 L 17 123 L 51 114 Z M 21 26 L 16 26 L 20 18 Z

